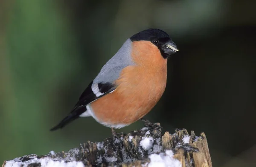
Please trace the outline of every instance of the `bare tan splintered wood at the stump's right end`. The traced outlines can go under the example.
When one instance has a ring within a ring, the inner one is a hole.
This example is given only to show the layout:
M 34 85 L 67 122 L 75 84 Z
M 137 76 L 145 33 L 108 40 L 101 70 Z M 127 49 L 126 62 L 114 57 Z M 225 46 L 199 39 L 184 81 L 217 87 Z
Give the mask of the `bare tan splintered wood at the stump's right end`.
M 162 137 L 163 150 L 175 150 L 174 155 L 182 167 L 212 167 L 212 161 L 209 154 L 207 138 L 204 133 L 201 136 L 195 136 L 195 132 L 188 134 L 186 129 L 176 129 L 172 135 L 165 132 Z

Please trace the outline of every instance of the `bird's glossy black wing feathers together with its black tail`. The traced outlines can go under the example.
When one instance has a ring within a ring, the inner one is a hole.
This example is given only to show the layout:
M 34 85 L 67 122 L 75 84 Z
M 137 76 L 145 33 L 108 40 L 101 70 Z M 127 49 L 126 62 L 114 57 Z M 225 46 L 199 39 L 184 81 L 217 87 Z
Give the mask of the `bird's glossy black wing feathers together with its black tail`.
M 74 121 L 75 119 L 79 118 L 79 115 L 86 112 L 86 106 L 87 104 L 90 104 L 91 102 L 97 100 L 98 98 L 101 98 L 104 95 L 107 95 L 109 92 L 116 89 L 115 84 L 107 82 L 107 83 L 97 83 L 98 89 L 99 89 L 99 96 L 96 96 L 92 90 L 92 84 L 91 82 L 87 88 L 84 90 L 84 92 L 81 94 L 79 101 L 76 103 L 75 107 L 72 109 L 69 115 L 65 117 L 58 125 L 50 129 L 51 131 L 58 130 L 71 121 Z

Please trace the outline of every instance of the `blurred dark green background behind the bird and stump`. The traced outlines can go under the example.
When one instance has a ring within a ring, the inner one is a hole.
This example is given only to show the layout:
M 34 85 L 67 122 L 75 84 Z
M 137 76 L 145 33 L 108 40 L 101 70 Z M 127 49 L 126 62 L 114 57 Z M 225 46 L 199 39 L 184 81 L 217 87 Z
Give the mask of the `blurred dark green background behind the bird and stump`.
M 158 28 L 180 49 L 146 116 L 205 132 L 215 167 L 256 166 L 256 1 L 1 0 L 0 164 L 111 135 L 93 118 L 60 121 L 131 35 Z M 143 127 L 138 121 L 118 132 Z

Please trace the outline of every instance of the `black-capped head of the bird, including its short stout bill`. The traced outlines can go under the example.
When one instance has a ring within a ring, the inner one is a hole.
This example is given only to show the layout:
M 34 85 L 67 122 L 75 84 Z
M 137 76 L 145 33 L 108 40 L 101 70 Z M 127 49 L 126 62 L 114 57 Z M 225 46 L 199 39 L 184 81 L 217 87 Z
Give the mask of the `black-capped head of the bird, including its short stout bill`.
M 133 35 L 130 39 L 131 41 L 151 41 L 151 43 L 158 47 L 163 58 L 167 58 L 178 51 L 176 44 L 172 41 L 169 35 L 160 29 L 146 29 Z

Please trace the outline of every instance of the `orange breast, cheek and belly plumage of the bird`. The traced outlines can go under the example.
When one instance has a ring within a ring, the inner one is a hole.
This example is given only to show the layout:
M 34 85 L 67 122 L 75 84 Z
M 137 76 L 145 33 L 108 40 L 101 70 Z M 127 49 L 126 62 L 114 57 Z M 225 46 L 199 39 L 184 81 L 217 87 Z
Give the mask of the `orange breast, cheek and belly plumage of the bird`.
M 125 67 L 116 90 L 91 103 L 98 121 L 131 124 L 146 115 L 159 101 L 166 87 L 167 60 L 149 41 L 132 43 L 134 66 Z

